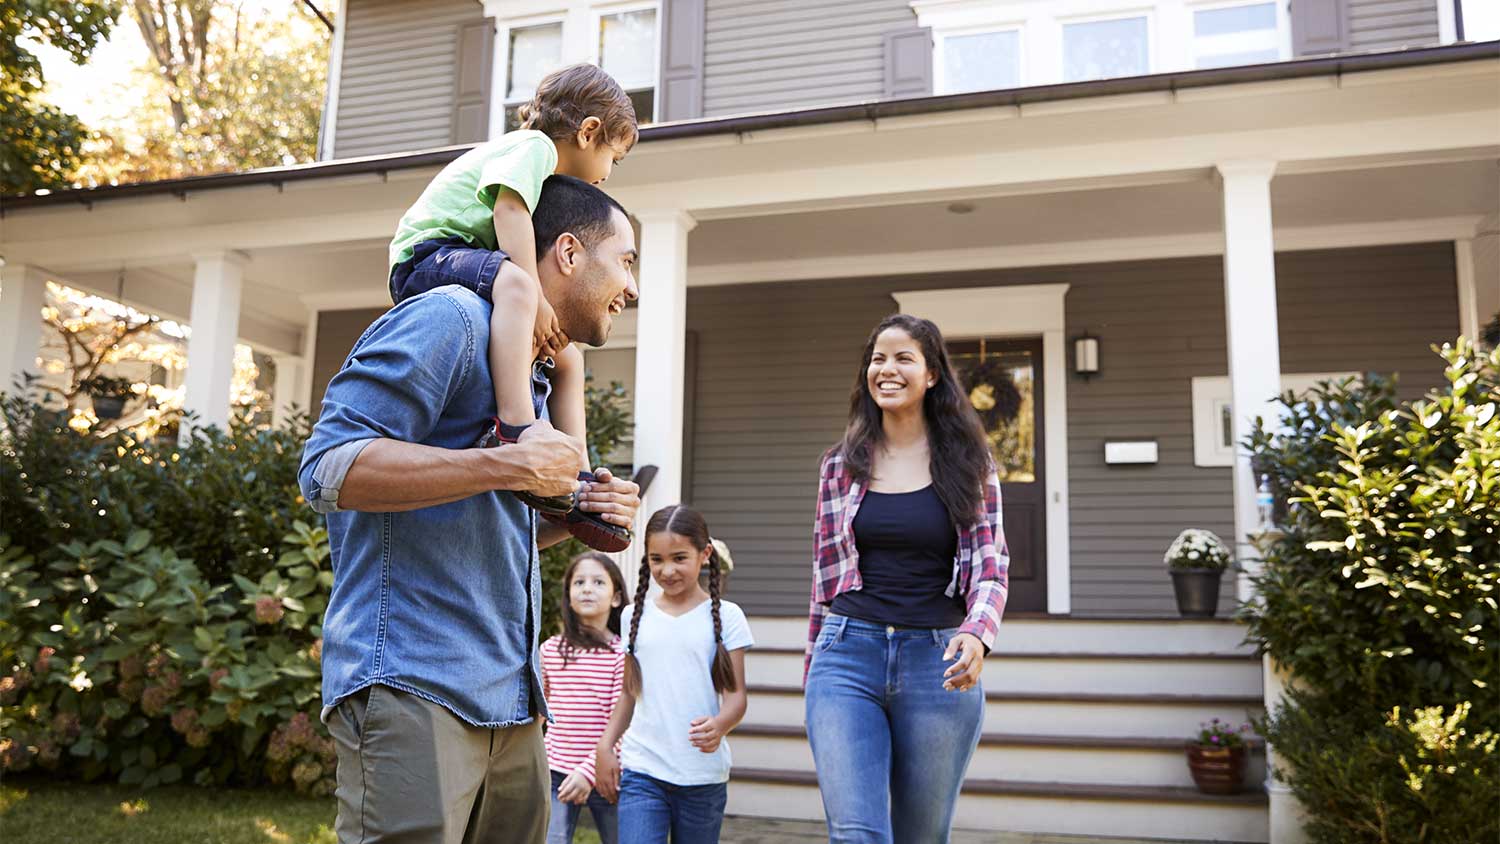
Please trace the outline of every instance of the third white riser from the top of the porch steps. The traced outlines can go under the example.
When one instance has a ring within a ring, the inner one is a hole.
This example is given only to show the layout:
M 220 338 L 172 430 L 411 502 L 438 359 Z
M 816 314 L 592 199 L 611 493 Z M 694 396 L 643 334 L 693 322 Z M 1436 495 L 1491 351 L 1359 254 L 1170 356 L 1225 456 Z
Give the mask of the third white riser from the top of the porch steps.
M 1264 712 L 1258 696 L 1209 694 L 1054 694 L 986 691 L 987 733 L 1101 738 L 1180 738 L 1220 718 L 1233 724 Z M 800 727 L 806 708 L 796 685 L 750 685 L 747 718 L 758 724 Z

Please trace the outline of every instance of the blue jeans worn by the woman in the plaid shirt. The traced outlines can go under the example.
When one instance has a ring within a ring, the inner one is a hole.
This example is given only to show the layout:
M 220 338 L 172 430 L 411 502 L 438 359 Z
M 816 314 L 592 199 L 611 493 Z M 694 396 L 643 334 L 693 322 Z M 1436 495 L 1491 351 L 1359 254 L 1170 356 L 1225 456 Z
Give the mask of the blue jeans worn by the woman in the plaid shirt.
M 831 844 L 946 843 L 984 691 L 942 687 L 948 630 L 831 615 L 813 643 L 807 739 Z

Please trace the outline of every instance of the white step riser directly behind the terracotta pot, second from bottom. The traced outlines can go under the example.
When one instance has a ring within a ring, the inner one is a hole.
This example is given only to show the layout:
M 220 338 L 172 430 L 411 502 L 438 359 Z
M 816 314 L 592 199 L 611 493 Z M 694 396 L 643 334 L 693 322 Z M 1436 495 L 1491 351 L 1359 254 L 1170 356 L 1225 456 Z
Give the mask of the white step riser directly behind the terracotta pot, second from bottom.
M 730 738 L 735 766 L 816 771 L 802 727 L 741 724 Z M 1102 738 L 986 733 L 969 762 L 972 780 L 1191 789 L 1178 738 Z M 1248 777 L 1266 778 L 1264 751 L 1252 742 Z

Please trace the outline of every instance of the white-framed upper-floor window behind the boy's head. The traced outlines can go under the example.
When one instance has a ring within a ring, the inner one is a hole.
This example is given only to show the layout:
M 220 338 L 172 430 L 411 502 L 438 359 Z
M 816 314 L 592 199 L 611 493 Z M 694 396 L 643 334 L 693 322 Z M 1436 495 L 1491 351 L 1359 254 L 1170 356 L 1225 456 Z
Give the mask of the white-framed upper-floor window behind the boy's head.
M 642 124 L 656 117 L 658 3 L 579 3 L 576 0 L 486 0 L 496 22 L 495 88 L 502 123 L 490 135 L 520 127 L 520 106 L 543 76 L 558 67 L 592 61 L 620 82 Z M 492 112 L 494 114 L 494 112 Z

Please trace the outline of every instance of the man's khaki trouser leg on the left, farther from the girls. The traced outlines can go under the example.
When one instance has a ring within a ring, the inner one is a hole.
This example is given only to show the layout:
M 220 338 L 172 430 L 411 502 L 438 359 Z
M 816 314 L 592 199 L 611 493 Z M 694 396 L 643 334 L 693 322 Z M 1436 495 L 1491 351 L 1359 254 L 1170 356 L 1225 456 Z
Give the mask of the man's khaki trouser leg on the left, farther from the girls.
M 382 685 L 328 717 L 339 844 L 459 844 L 488 769 L 489 730 Z

